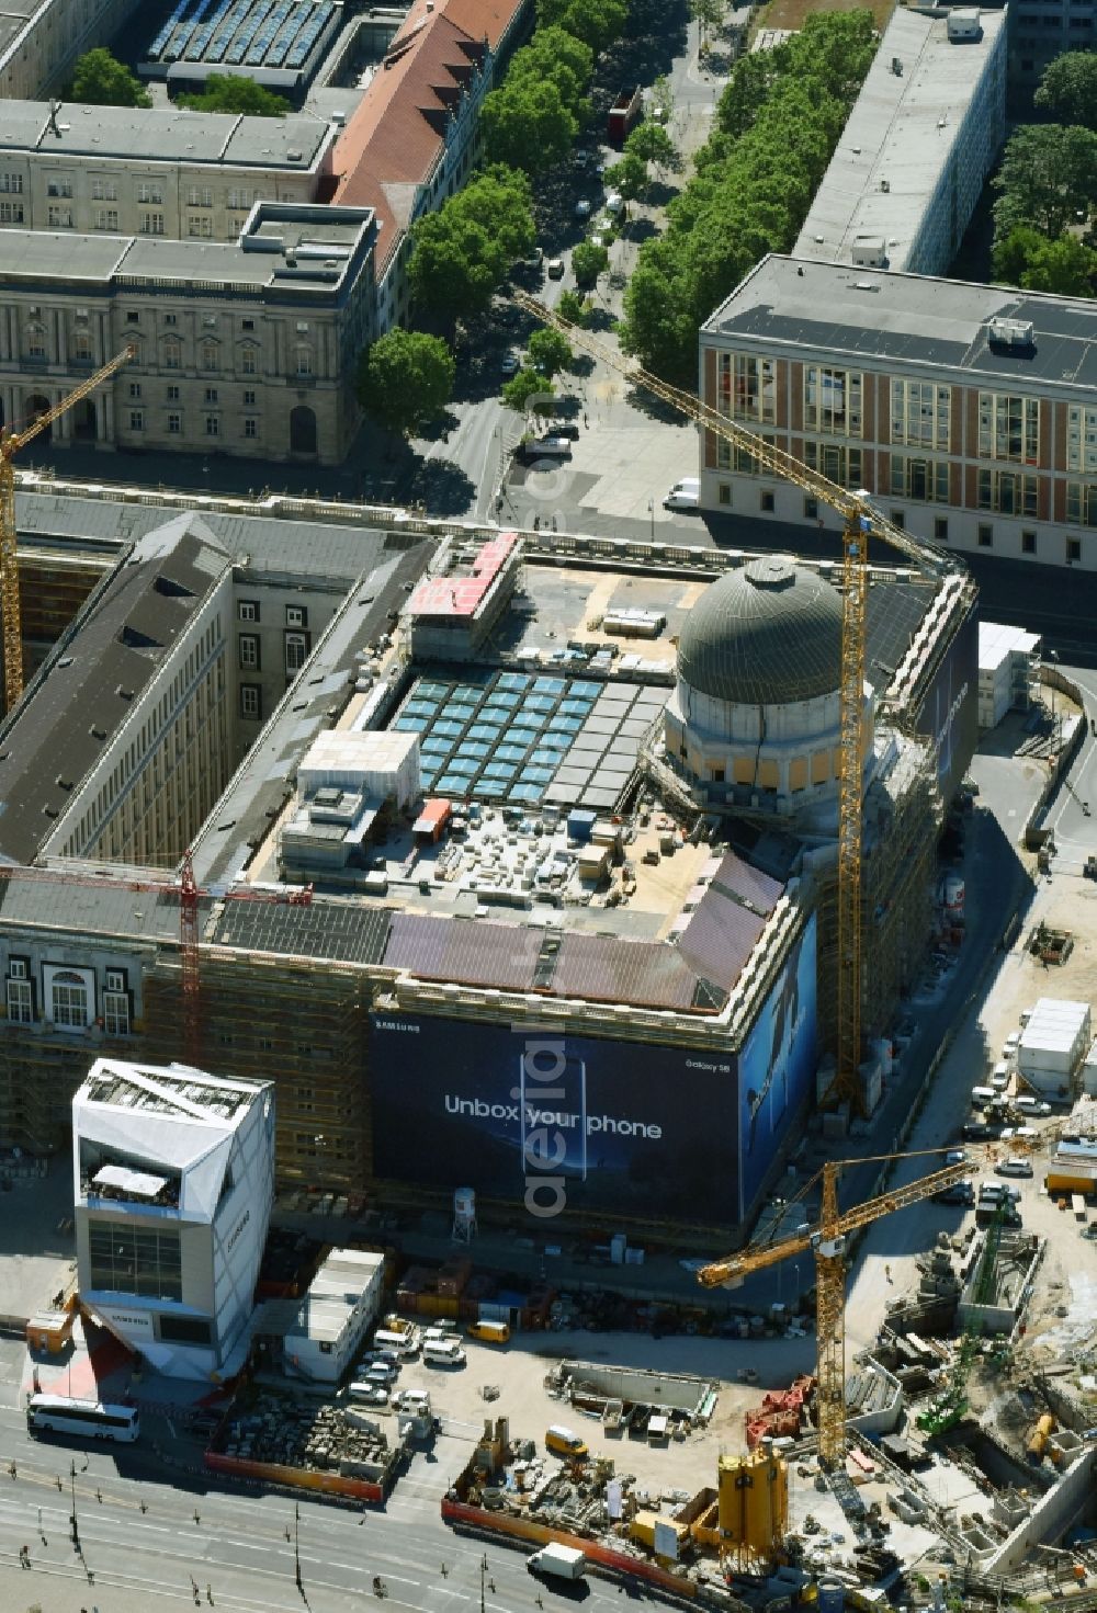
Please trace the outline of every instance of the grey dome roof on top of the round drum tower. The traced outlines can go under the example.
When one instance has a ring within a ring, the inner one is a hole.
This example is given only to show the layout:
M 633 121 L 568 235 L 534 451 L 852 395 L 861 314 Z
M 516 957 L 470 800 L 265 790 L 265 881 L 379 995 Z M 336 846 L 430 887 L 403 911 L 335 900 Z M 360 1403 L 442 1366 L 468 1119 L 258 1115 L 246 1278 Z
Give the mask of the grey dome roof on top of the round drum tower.
M 739 705 L 787 705 L 832 694 L 842 669 L 842 598 L 778 555 L 713 582 L 686 618 L 679 676 Z

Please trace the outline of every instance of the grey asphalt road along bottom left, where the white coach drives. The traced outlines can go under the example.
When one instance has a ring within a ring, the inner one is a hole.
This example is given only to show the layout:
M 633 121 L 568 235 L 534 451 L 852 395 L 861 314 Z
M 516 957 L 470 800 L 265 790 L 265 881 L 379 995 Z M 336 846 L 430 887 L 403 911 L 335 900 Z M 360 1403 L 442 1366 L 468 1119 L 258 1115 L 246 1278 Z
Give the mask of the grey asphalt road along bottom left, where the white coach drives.
M 3 1408 L 0 1605 L 11 1613 L 35 1600 L 44 1613 L 90 1613 L 92 1605 L 100 1613 L 129 1613 L 153 1597 L 192 1602 L 194 1581 L 202 1605 L 208 1605 L 210 1586 L 213 1605 L 232 1613 L 297 1613 L 302 1607 L 308 1613 L 360 1613 L 361 1597 L 373 1598 L 373 1576 L 379 1574 L 392 1613 L 463 1613 L 474 1607 L 532 1613 L 537 1595 L 545 1610 L 574 1607 L 574 1597 L 528 1573 L 524 1550 L 484 1544 L 442 1524 L 444 1482 L 465 1465 L 471 1432 L 439 1440 L 437 1460 L 416 1455 L 384 1510 L 302 1500 L 295 1524 L 294 1502 L 286 1495 L 218 1489 L 202 1476 L 192 1481 L 166 1473 L 148 1448 L 147 1429 L 137 1445 L 123 1447 L 32 1440 L 21 1411 Z M 79 1553 L 69 1534 L 73 1461 Z M 31 1571 L 18 1565 L 21 1545 L 31 1547 Z M 489 1568 L 481 1603 L 484 1555 Z M 592 1579 L 582 1605 L 590 1613 L 619 1607 L 616 1584 Z

